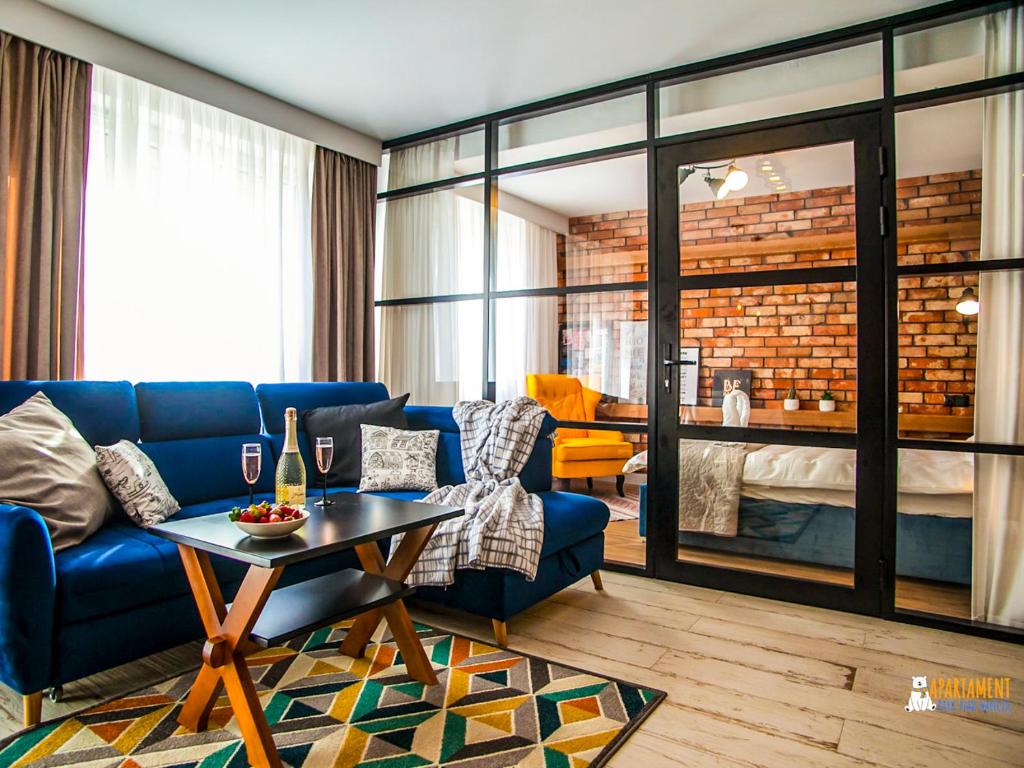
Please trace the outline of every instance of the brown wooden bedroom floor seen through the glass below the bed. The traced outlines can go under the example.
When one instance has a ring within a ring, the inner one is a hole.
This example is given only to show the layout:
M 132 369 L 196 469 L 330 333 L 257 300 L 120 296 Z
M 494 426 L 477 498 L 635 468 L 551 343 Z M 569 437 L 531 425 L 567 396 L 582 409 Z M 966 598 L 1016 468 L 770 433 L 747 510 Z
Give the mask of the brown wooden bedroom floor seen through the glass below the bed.
M 605 560 L 627 565 L 643 565 L 646 559 L 645 548 L 646 544 L 639 536 L 636 520 L 615 520 L 608 523 L 604 534 Z M 828 584 L 853 585 L 853 571 L 849 568 L 830 568 L 812 563 L 748 557 L 692 547 L 680 547 L 679 558 L 686 562 L 706 565 L 810 579 Z M 957 584 L 898 577 L 896 579 L 896 607 L 900 610 L 916 610 L 954 618 L 970 618 L 971 588 Z

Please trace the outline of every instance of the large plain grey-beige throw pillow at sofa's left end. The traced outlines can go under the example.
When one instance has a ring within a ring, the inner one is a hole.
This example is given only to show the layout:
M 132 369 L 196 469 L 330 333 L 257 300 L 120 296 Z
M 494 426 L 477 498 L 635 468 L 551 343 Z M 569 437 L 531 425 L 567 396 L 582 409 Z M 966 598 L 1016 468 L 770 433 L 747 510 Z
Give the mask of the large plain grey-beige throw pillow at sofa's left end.
M 0 502 L 36 510 L 54 551 L 81 544 L 114 512 L 92 446 L 42 392 L 0 416 Z

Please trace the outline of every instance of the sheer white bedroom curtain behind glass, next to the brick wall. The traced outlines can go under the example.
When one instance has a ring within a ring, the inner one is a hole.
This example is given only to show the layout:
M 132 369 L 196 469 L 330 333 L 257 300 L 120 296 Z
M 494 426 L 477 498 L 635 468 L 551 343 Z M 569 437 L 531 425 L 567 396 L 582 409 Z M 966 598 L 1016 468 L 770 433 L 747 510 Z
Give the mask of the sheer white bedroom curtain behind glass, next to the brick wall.
M 499 286 L 554 286 L 556 234 L 504 211 L 498 214 Z M 526 374 L 558 373 L 558 298 L 495 302 L 495 385 L 498 401 L 526 392 Z

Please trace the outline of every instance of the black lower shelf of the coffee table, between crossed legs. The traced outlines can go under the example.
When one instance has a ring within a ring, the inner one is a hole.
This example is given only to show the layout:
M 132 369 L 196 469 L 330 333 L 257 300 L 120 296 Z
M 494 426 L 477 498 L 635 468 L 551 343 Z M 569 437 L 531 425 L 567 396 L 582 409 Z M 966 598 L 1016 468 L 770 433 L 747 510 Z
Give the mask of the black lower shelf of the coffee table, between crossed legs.
M 321 627 L 409 597 L 400 582 L 349 568 L 274 590 L 250 638 L 268 648 Z

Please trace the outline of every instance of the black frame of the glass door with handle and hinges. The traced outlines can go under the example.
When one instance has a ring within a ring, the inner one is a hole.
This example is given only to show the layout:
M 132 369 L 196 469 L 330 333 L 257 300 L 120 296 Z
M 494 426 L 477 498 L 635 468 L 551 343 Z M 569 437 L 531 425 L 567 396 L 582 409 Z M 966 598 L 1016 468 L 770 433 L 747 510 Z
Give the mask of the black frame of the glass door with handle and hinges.
M 879 530 L 882 527 L 882 486 L 874 481 L 882 470 L 885 446 L 884 350 L 874 340 L 883 335 L 885 315 L 877 311 L 884 296 L 882 259 L 873 253 L 881 236 L 881 183 L 879 152 L 881 134 L 877 111 L 859 115 L 811 120 L 778 128 L 756 128 L 734 132 L 720 138 L 689 140 L 683 137 L 673 145 L 657 150 L 657 206 L 670 212 L 657 225 L 657 253 L 674 255 L 679 251 L 679 183 L 677 169 L 701 160 L 723 157 L 749 157 L 773 154 L 839 142 L 850 142 L 854 155 L 856 197 L 857 266 L 825 266 L 812 269 L 776 269 L 755 272 L 687 275 L 679 273 L 676 258 L 657 260 L 656 282 L 672 288 L 658 298 L 657 346 L 672 350 L 680 343 L 679 292 L 694 288 L 740 286 L 784 286 L 807 283 L 856 283 L 857 289 L 857 430 L 855 433 L 816 430 L 759 429 L 679 424 L 678 377 L 665 376 L 666 389 L 659 383 L 654 391 L 655 441 L 657 471 L 654 474 L 654 504 L 648 502 L 648 525 L 653 507 L 653 525 L 647 537 L 647 557 L 654 562 L 658 578 L 682 581 L 701 587 L 726 585 L 749 594 L 783 600 L 796 600 L 860 613 L 881 612 L 882 559 Z M 873 256 L 873 258 L 872 258 Z M 649 395 L 648 395 L 649 397 Z M 854 548 L 854 581 L 851 587 L 752 572 L 749 569 L 723 568 L 681 562 L 677 555 L 679 438 L 735 440 L 776 444 L 817 445 L 857 449 L 857 513 Z

